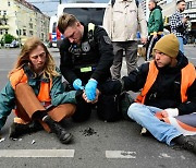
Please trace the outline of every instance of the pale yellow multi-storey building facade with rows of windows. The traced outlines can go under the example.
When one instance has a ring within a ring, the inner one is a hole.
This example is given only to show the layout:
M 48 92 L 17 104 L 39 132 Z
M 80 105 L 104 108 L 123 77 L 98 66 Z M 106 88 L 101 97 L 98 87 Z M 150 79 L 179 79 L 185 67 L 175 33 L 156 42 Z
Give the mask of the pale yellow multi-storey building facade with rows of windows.
M 11 34 L 24 44 L 26 38 L 48 40 L 49 16 L 25 0 L 0 0 L 0 39 Z

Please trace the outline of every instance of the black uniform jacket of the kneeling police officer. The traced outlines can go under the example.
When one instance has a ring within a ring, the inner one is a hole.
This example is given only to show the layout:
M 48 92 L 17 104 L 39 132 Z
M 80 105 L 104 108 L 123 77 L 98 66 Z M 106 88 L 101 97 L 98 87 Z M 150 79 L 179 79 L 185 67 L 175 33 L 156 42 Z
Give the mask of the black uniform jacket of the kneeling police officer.
M 84 25 L 84 35 L 83 41 L 86 41 L 88 38 L 88 26 Z M 94 50 L 94 56 L 96 59 L 90 60 L 90 57 L 83 58 L 79 61 L 73 60 L 73 55 L 70 51 L 70 47 L 73 45 L 69 39 L 64 38 L 63 44 L 60 47 L 60 70 L 62 75 L 68 80 L 69 83 L 73 83 L 74 80 L 79 77 L 85 84 L 88 79 L 93 77 L 98 83 L 105 82 L 111 76 L 110 67 L 113 62 L 113 48 L 111 40 L 108 37 L 108 34 L 102 27 L 95 26 L 94 31 L 94 46 L 90 46 L 90 50 Z M 88 52 L 86 52 L 88 56 Z M 96 64 L 96 68 L 90 73 L 81 73 L 75 67 L 77 65 L 88 65 L 89 63 Z

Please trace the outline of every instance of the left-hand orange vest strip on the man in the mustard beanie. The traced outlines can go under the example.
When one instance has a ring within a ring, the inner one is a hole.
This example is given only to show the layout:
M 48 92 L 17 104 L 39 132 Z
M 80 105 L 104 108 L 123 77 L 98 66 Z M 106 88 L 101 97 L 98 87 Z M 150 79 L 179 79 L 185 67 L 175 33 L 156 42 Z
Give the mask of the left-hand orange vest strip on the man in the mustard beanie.
M 144 104 L 146 94 L 148 93 L 148 91 L 150 89 L 152 84 L 155 83 L 155 81 L 157 79 L 157 74 L 158 74 L 158 70 L 155 65 L 155 61 L 152 60 L 149 62 L 149 71 L 148 71 L 148 75 L 147 75 L 144 88 L 142 89 L 140 94 L 136 98 L 137 103 Z

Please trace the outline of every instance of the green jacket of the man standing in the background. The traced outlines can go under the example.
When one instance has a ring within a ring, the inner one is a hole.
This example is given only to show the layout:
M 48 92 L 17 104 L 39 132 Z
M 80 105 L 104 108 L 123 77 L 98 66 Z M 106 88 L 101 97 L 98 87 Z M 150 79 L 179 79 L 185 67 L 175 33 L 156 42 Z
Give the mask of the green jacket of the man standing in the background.
M 163 32 L 162 9 L 157 5 L 149 14 L 148 35 L 154 32 Z

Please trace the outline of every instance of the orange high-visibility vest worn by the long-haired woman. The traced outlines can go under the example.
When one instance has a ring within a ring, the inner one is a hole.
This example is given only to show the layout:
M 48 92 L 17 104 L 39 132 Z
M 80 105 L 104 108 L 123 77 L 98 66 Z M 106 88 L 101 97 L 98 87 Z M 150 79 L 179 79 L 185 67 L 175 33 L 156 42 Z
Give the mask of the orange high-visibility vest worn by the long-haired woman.
M 27 75 L 25 74 L 24 70 L 21 69 L 21 70 L 14 72 L 13 74 L 11 74 L 10 82 L 11 82 L 13 89 L 15 89 L 15 87 L 19 83 L 27 83 L 28 79 L 27 79 Z M 51 86 L 52 86 L 51 80 L 49 83 L 40 82 L 40 89 L 39 89 L 39 94 L 38 94 L 37 98 L 44 105 L 51 103 L 51 97 L 50 97 Z

